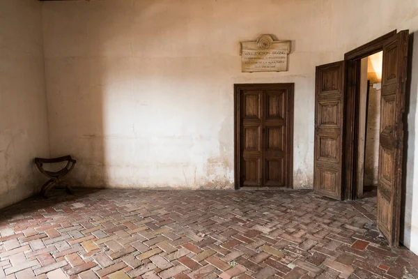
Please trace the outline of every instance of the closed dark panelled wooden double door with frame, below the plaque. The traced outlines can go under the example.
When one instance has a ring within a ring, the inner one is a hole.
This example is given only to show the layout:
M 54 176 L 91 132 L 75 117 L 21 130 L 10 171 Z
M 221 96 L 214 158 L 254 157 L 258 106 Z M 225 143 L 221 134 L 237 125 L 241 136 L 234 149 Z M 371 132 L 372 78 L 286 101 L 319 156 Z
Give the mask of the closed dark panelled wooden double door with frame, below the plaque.
M 291 187 L 293 84 L 235 85 L 237 188 Z

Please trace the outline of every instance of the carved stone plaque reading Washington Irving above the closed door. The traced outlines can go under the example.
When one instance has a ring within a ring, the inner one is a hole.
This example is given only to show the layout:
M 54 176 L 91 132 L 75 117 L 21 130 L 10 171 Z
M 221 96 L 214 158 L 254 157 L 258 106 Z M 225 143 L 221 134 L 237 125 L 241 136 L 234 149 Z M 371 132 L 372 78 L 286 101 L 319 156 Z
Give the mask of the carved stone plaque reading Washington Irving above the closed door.
M 270 35 L 261 35 L 256 41 L 241 42 L 242 73 L 286 71 L 290 52 L 290 40 L 273 40 Z

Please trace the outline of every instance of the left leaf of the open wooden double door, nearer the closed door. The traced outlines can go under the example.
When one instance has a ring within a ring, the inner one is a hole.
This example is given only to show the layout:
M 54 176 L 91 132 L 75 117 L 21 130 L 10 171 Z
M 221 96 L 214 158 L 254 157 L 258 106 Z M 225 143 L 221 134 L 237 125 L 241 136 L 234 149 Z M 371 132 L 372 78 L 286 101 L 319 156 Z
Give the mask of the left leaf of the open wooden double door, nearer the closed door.
M 316 67 L 315 193 L 343 199 L 344 61 Z

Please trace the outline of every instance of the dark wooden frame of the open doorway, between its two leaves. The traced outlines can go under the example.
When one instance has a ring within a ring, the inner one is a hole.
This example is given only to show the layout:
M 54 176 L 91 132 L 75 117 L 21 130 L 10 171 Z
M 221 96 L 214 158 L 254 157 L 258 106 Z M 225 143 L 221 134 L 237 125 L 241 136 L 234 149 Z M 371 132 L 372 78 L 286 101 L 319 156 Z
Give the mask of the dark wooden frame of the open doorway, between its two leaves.
M 396 35 L 391 31 L 376 40 L 357 47 L 344 55 L 346 60 L 346 105 L 343 130 L 343 193 L 345 199 L 359 197 L 357 185 L 358 144 L 359 144 L 359 100 L 361 60 L 383 50 L 385 42 Z

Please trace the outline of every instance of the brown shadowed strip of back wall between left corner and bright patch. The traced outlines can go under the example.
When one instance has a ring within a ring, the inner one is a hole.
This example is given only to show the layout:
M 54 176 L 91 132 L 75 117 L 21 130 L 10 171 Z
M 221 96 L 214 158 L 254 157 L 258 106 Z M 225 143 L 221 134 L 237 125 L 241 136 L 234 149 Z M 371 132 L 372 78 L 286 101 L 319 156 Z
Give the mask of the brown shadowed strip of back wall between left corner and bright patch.
M 102 40 L 95 38 L 99 29 L 94 30 L 93 21 L 90 22 L 86 15 L 89 2 L 44 4 L 51 156 L 70 154 L 77 160 L 72 174 L 68 176 L 74 186 L 105 185 L 103 99 L 108 63 L 104 61 Z M 71 6 L 84 6 L 80 8 L 79 17 L 77 8 Z M 58 26 L 49 24 L 49 21 L 56 22 L 55 17 L 60 15 L 54 15 L 56 8 L 61 13 L 68 9 L 69 15 L 84 22 L 79 26 L 86 28 L 77 29 L 70 20 L 63 20 Z M 111 24 L 111 13 L 100 21 Z M 55 40 L 59 39 L 62 40 L 57 46 Z

